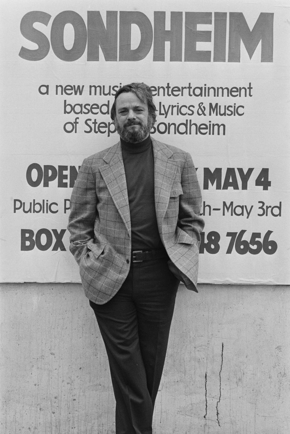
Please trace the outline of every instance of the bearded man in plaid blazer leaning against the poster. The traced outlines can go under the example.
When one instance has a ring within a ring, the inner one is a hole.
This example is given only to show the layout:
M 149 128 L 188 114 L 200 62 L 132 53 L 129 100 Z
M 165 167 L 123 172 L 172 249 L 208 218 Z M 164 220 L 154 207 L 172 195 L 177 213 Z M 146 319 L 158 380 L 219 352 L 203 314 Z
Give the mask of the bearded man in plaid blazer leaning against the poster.
M 116 434 L 151 434 L 180 281 L 197 292 L 203 220 L 189 154 L 150 138 L 150 88 L 111 109 L 120 141 L 86 158 L 71 195 L 70 250 L 106 346 Z

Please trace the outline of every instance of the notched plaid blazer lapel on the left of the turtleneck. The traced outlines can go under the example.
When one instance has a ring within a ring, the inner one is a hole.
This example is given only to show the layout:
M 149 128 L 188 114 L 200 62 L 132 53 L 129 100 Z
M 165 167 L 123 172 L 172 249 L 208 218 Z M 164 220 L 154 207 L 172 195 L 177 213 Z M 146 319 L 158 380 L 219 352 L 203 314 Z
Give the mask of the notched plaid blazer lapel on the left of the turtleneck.
M 103 180 L 128 232 L 131 233 L 128 192 L 120 142 L 110 148 L 103 159 L 107 163 L 100 167 Z

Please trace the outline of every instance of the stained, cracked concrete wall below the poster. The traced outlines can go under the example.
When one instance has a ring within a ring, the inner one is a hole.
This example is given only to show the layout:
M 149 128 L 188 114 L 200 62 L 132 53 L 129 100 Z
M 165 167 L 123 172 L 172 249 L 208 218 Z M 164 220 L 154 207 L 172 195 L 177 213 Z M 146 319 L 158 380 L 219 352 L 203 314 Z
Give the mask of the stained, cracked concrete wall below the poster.
M 114 433 L 104 345 L 79 284 L 1 286 L 3 434 Z M 290 288 L 180 286 L 155 434 L 290 432 Z

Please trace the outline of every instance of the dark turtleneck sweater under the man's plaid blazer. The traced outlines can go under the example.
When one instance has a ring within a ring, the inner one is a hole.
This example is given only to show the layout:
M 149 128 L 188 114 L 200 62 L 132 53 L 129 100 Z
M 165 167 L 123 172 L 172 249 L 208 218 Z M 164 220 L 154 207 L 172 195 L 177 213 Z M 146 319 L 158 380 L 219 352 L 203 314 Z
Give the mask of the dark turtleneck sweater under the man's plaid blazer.
M 154 196 L 154 157 L 151 138 L 128 143 L 121 138 L 131 217 L 132 250 L 162 247 Z

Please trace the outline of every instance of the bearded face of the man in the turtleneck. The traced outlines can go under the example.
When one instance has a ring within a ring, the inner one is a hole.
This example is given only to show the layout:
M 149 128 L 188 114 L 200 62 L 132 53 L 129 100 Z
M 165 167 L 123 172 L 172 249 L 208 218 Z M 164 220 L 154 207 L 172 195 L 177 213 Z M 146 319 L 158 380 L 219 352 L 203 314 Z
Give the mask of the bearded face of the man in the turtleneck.
M 130 143 L 138 143 L 148 137 L 152 120 L 147 103 L 133 92 L 122 92 L 116 99 L 115 125 L 120 137 Z

